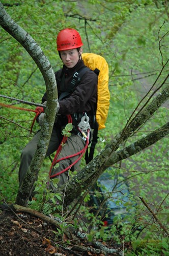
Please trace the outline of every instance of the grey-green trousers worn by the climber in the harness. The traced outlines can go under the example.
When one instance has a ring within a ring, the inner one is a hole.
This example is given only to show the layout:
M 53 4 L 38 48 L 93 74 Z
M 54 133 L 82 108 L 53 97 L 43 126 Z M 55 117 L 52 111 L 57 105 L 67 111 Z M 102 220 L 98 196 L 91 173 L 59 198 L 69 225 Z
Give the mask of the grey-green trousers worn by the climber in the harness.
M 22 154 L 21 154 L 21 162 L 19 167 L 19 185 L 24 179 L 24 176 L 27 172 L 27 169 L 29 168 L 29 165 L 32 161 L 32 158 L 35 154 L 37 143 L 40 137 L 40 131 L 37 132 L 37 134 L 33 137 L 33 139 L 23 148 Z M 62 134 L 61 130 L 57 128 L 53 128 L 51 138 L 49 141 L 49 146 L 46 152 L 46 156 L 48 157 L 53 152 L 57 151 L 61 141 L 62 141 Z M 85 147 L 86 142 L 82 139 L 81 136 L 71 134 L 71 136 L 67 139 L 67 142 L 62 147 L 62 151 L 59 155 L 59 158 L 73 155 L 79 151 L 81 151 Z M 62 160 L 59 162 L 59 167 L 55 168 L 53 167 L 51 175 L 60 173 L 63 169 L 68 167 L 71 163 L 73 163 L 79 156 L 75 156 L 73 158 L 68 158 L 65 160 Z M 71 171 L 76 169 L 80 164 L 80 161 L 78 161 L 72 168 Z M 50 169 L 50 166 L 49 166 Z M 56 178 L 59 178 L 58 187 L 61 187 L 68 179 L 69 179 L 69 170 L 64 172 L 63 174 L 57 176 Z M 56 189 L 54 188 L 52 184 L 52 180 L 49 182 L 49 189 L 52 189 L 52 192 L 54 193 Z

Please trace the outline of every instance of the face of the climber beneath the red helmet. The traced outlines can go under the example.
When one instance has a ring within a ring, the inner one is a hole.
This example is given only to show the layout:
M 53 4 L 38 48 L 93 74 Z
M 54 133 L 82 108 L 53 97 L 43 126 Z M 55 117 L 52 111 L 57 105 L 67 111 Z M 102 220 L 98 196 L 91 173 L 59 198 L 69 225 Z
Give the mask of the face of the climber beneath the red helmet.
M 77 64 L 79 60 L 79 54 L 81 53 L 82 49 L 80 49 L 79 52 L 77 49 L 60 51 L 62 61 L 64 65 L 69 69 L 73 68 Z

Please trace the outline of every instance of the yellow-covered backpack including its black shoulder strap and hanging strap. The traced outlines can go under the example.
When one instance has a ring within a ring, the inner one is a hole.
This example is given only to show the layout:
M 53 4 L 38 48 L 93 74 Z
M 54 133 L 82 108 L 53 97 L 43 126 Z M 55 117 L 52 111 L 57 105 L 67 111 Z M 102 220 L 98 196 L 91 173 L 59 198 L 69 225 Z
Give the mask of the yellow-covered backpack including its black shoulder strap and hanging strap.
M 96 121 L 93 120 L 92 124 L 93 138 L 90 146 L 90 154 L 88 156 L 87 149 L 85 157 L 86 163 L 89 163 L 93 159 L 95 145 L 98 139 L 98 130 L 105 128 L 105 121 L 108 115 L 110 99 L 108 90 L 108 64 L 102 56 L 94 53 L 82 53 L 82 59 L 86 67 L 83 67 L 78 73 L 76 72 L 76 76 L 73 76 L 73 79 L 69 83 L 68 91 L 63 92 L 60 95 L 59 100 L 67 97 L 74 91 L 88 69 L 93 70 L 98 75 Z

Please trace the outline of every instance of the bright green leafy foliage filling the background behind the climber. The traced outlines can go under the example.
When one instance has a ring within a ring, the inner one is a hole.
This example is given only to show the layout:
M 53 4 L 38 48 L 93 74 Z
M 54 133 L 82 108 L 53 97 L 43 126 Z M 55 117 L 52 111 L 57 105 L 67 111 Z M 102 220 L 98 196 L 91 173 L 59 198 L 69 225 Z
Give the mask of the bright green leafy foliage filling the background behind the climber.
M 6 1 L 2 1 L 6 3 Z M 14 0 L 10 4 L 15 4 Z M 105 57 L 109 65 L 109 90 L 111 95 L 106 129 L 99 131 L 99 141 L 95 155 L 98 154 L 126 125 L 134 109 L 145 97 L 159 74 L 162 61 L 168 58 L 168 16 L 162 1 L 19 1 L 19 6 L 5 6 L 11 17 L 38 42 L 49 59 L 54 71 L 62 67 L 57 53 L 55 39 L 57 33 L 65 27 L 73 27 L 79 31 L 83 41 L 83 52 L 94 52 Z M 165 23 L 164 23 L 165 21 Z M 164 24 L 163 24 L 164 23 Z M 161 28 L 161 29 L 160 29 Z M 159 32 L 160 29 L 160 32 Z M 40 71 L 30 55 L 2 28 L 0 39 L 0 89 L 1 94 L 41 102 L 45 92 L 45 84 Z M 161 41 L 160 41 L 161 40 Z M 159 41 L 161 45 L 159 46 Z M 160 47 L 160 49 L 159 49 Z M 160 51 L 162 52 L 162 56 Z M 168 66 L 161 74 L 160 81 L 168 74 Z M 142 108 L 158 86 L 151 89 L 139 105 L 136 112 Z M 0 99 L 5 104 L 16 104 L 14 101 Z M 22 108 L 25 105 L 19 104 Z M 33 106 L 27 106 L 34 109 Z M 18 168 L 22 148 L 30 141 L 34 114 L 32 112 L 4 108 L 0 106 L 0 200 L 9 203 L 15 201 L 18 190 Z M 123 148 L 134 141 L 145 137 L 168 120 L 168 103 L 165 103 L 143 127 L 130 137 Z M 33 134 L 39 129 L 35 124 Z M 66 135 L 70 134 L 66 128 Z M 89 238 L 101 238 L 104 241 L 114 239 L 117 242 L 133 241 L 133 250 L 128 255 L 168 254 L 167 239 L 150 212 L 140 202 L 142 196 L 150 208 L 156 213 L 159 221 L 168 225 L 168 139 L 163 138 L 125 161 L 114 166 L 111 173 L 123 174 L 131 191 L 130 199 L 133 205 L 126 205 L 130 214 L 125 222 L 120 216 L 115 218 L 111 227 L 103 227 L 99 214 L 89 212 L 85 205 L 81 206 L 82 218 L 75 221 L 76 226 L 82 225 L 89 230 Z M 45 214 L 57 210 L 62 211 L 59 194 L 46 190 L 46 181 L 50 168 L 49 159 L 45 159 L 39 181 L 36 186 L 37 201 L 31 202 L 31 207 Z M 85 165 L 82 159 L 81 166 Z M 55 197 L 53 197 L 55 196 Z M 99 195 L 96 195 L 99 198 Z M 107 193 L 107 197 L 111 195 Z M 52 201 L 52 206 L 48 201 Z M 121 203 L 122 199 L 119 199 Z M 131 209 L 134 211 L 131 212 Z M 165 216 L 165 218 L 164 218 Z M 63 216 L 61 216 L 63 217 Z M 142 217 L 142 218 L 140 218 Z M 89 225 L 90 223 L 90 225 Z M 135 229 L 133 228 L 135 227 Z M 143 239 L 144 246 L 143 246 Z M 159 243 L 156 243 L 158 239 Z M 125 252 L 127 255 L 127 252 Z

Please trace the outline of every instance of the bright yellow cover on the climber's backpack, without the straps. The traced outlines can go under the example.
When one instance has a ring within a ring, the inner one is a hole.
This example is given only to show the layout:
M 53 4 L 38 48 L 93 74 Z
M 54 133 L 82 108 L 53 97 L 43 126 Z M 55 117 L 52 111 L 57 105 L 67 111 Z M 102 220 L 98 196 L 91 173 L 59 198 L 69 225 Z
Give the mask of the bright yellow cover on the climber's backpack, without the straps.
M 108 64 L 102 56 L 94 53 L 82 53 L 82 59 L 85 65 L 91 70 L 99 70 L 96 121 L 99 125 L 98 130 L 101 130 L 105 128 L 105 121 L 109 109 Z

